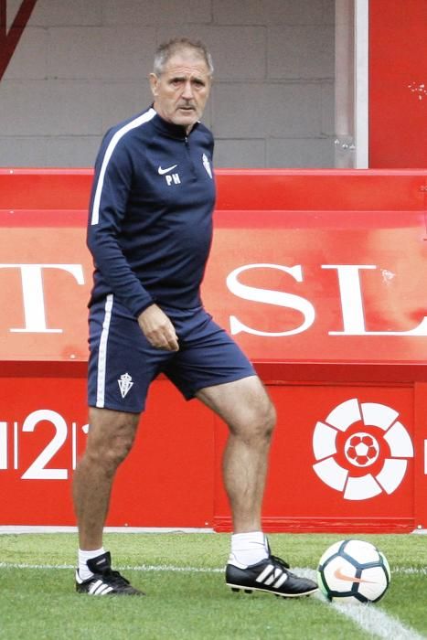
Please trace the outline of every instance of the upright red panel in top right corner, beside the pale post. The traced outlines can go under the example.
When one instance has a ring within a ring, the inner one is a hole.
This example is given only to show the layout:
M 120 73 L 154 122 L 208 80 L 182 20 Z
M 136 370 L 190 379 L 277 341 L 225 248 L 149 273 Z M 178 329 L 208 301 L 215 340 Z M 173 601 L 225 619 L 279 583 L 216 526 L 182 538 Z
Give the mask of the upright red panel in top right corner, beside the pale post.
M 369 3 L 369 166 L 427 166 L 427 3 Z

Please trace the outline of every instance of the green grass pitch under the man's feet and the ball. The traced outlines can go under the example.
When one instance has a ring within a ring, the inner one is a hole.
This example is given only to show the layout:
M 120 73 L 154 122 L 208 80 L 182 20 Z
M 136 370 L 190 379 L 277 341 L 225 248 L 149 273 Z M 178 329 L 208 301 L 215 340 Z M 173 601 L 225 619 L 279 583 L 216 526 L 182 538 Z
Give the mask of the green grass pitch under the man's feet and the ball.
M 368 607 L 356 605 L 353 616 L 340 609 L 354 610 L 355 605 L 331 605 L 320 596 L 283 600 L 267 593 L 231 592 L 222 571 L 229 554 L 227 534 L 107 534 L 104 546 L 112 551 L 113 568 L 123 569 L 147 593 L 145 598 L 76 593 L 73 534 L 1 535 L 0 638 L 427 637 L 425 536 L 274 534 L 269 539 L 275 555 L 293 567 L 314 570 L 332 542 L 349 537 L 376 544 L 392 571 L 384 599 Z

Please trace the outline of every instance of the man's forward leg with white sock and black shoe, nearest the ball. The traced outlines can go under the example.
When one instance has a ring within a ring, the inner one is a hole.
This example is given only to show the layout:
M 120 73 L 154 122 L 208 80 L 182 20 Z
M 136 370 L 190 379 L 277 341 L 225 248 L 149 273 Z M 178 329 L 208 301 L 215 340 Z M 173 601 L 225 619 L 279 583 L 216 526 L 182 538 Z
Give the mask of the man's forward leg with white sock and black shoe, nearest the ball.
M 234 590 L 267 591 L 283 598 L 317 591 L 284 560 L 272 556 L 262 533 L 261 509 L 268 454 L 275 422 L 272 402 L 256 376 L 202 389 L 197 397 L 227 422 L 223 458 L 225 487 L 233 514 L 226 582 Z

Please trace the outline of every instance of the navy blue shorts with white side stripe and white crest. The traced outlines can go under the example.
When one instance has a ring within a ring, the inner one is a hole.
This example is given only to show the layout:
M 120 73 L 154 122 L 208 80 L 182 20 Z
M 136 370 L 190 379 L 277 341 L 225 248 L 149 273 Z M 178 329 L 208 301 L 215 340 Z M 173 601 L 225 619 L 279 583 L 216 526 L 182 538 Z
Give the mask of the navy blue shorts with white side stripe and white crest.
M 151 382 L 164 373 L 190 400 L 199 389 L 254 376 L 240 347 L 203 309 L 162 306 L 175 326 L 179 351 L 151 347 L 136 319 L 112 294 L 89 316 L 89 405 L 144 411 Z

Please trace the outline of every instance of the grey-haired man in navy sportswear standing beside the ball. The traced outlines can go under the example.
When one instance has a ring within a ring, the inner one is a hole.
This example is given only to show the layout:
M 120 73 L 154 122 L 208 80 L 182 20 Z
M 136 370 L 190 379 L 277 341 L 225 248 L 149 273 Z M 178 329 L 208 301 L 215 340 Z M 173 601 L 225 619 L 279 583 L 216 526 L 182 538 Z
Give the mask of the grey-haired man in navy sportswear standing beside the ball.
M 251 363 L 200 300 L 212 232 L 213 139 L 199 119 L 212 81 L 205 46 L 157 49 L 154 104 L 112 128 L 95 165 L 88 227 L 91 429 L 74 478 L 79 524 L 76 589 L 143 595 L 102 547 L 112 481 L 129 453 L 147 389 L 162 371 L 189 400 L 227 422 L 224 482 L 234 534 L 226 581 L 282 596 L 315 592 L 272 557 L 261 528 L 272 402 Z

